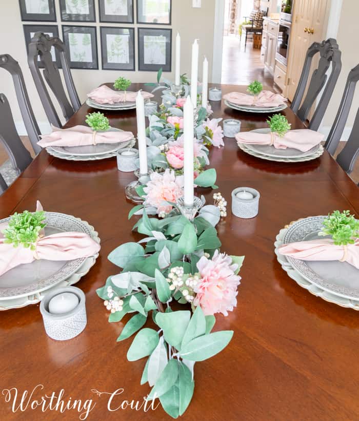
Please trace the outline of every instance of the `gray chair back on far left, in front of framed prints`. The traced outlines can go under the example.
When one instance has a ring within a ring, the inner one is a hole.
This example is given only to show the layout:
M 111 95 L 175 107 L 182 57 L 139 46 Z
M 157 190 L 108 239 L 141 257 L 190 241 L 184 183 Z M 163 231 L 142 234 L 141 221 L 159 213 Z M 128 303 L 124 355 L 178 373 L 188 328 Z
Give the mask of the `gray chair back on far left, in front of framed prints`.
M 52 61 L 52 47 L 58 51 L 61 66 L 64 72 L 65 85 L 71 104 L 67 99 L 56 63 Z M 43 74 L 39 69 L 38 59 L 44 67 Z M 43 103 L 49 122 L 56 127 L 61 127 L 61 120 L 59 119 L 51 101 L 45 81 L 54 93 L 66 121 L 73 116 L 74 112 L 77 111 L 81 105 L 72 79 L 69 63 L 67 61 L 64 43 L 57 37 L 50 37 L 43 32 L 36 32 L 29 44 L 28 63 L 37 92 L 40 96 L 41 102 Z

